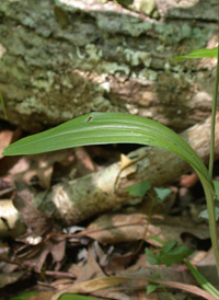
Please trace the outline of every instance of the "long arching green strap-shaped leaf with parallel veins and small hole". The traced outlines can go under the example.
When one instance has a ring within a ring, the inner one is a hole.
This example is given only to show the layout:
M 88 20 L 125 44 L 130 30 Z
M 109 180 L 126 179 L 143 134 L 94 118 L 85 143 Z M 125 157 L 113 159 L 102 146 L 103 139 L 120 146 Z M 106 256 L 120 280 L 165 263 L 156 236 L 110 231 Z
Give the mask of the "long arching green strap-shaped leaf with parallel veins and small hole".
M 3 155 L 36 154 L 77 146 L 103 143 L 141 143 L 174 152 L 196 171 L 203 184 L 209 216 L 210 235 L 219 272 L 219 246 L 214 218 L 215 189 L 208 170 L 197 153 L 168 127 L 139 116 L 119 113 L 91 113 L 47 131 L 10 145 Z

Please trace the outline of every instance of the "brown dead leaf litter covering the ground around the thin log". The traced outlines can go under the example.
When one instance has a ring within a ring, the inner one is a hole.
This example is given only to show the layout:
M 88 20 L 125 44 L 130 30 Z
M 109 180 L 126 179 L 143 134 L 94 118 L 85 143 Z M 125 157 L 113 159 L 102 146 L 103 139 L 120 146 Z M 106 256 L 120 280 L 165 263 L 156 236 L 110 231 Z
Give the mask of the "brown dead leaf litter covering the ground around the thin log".
M 0 132 L 1 139 L 5 147 L 13 139 L 13 131 L 4 131 L 2 135 Z M 93 149 L 99 157 L 104 157 L 105 164 L 107 150 L 101 147 Z M 118 157 L 117 149 L 115 154 Z M 189 189 L 197 182 L 196 175 L 182 177 L 166 201 L 160 206 L 155 203 L 150 219 L 146 211 L 151 199 L 147 197 L 147 201 L 136 207 L 128 206 L 124 210 L 88 220 L 80 227 L 69 228 L 55 220 L 53 211 L 47 216 L 32 204 L 36 191 L 48 191 L 56 182 L 84 176 L 103 169 L 104 164 L 95 158 L 91 149 L 87 151 L 83 147 L 73 151 L 21 157 L 13 164 L 4 161 L 5 158 L 0 158 L 0 164 L 5 165 L 0 186 L 2 185 L 2 191 L 12 187 L 5 192 L 9 197 L 2 201 L 13 204 L 21 216 L 16 222 L 22 220 L 25 229 L 24 234 L 0 245 L 0 287 L 7 289 L 8 285 L 25 282 L 25 279 L 33 278 L 34 275 L 34 285 L 30 287 L 22 284 L 22 290 L 34 290 L 37 293 L 25 299 L 56 300 L 61 295 L 81 293 L 89 295 L 92 299 L 153 300 L 170 299 L 172 292 L 175 299 L 215 299 L 194 286 L 196 282 L 183 263 L 169 268 L 164 265 L 158 267 L 149 264 L 143 253 L 145 246 L 150 251 L 158 251 L 162 246 L 159 239 L 164 243 L 174 240 L 184 244 L 187 243 L 185 236 L 192 236 L 195 250 L 192 259 L 201 268 L 209 268 L 210 265 L 214 277 L 215 264 L 209 263 L 208 258 L 210 251 L 197 247 L 201 241 L 209 240 L 208 227 L 205 221 L 197 222 L 191 215 L 189 205 L 194 197 Z M 112 158 L 108 161 L 112 162 Z M 168 191 L 164 193 L 170 194 Z M 187 197 L 187 205 L 182 204 L 181 196 Z M 177 197 L 180 199 L 176 204 Z M 177 216 L 171 216 L 172 211 Z M 1 214 L 1 205 L 0 217 L 5 227 L 9 226 L 5 216 Z M 8 241 L 7 238 L 3 239 Z M 141 240 L 143 246 L 138 250 Z M 152 274 L 159 275 L 161 279 L 151 279 Z M 159 288 L 147 296 L 148 282 L 155 282 Z M 189 292 L 189 297 L 196 296 L 187 298 L 188 293 L 182 290 Z M 8 295 L 9 292 L 2 293 L 3 299 L 9 299 Z

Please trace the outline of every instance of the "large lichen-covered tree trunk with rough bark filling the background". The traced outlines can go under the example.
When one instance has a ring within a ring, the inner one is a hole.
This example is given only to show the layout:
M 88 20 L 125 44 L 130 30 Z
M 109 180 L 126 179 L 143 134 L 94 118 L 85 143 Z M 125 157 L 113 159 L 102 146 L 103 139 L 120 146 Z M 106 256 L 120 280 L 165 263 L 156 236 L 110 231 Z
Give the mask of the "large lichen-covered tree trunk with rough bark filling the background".
M 1 0 L 0 90 L 10 122 L 37 131 L 91 111 L 181 131 L 210 113 L 215 0 Z M 2 113 L 1 113 L 2 116 Z

